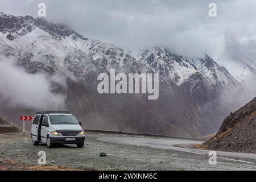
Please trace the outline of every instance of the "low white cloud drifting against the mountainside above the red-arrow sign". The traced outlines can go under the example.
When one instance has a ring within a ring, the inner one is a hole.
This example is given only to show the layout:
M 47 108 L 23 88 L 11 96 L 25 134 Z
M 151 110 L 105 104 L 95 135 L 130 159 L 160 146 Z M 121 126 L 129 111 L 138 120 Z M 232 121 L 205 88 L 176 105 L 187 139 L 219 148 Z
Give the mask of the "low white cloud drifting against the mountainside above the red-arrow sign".
M 22 109 L 64 109 L 65 95 L 53 93 L 54 85 L 67 87 L 64 76 L 31 75 L 15 65 L 14 60 L 0 57 L 0 98 L 7 106 Z

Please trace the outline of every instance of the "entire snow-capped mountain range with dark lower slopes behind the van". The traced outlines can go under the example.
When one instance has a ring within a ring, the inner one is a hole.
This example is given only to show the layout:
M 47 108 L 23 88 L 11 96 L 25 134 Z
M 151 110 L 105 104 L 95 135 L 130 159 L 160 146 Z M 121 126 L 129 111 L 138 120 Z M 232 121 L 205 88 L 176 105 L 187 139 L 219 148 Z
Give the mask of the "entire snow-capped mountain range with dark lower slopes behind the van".
M 230 111 L 221 104 L 221 93 L 241 87 L 207 55 L 193 60 L 153 47 L 141 51 L 136 59 L 112 44 L 32 16 L 0 14 L 0 55 L 16 59 L 32 74 L 75 76 L 77 80 L 67 78 L 68 89 L 55 92 L 67 95 L 67 109 L 91 129 L 199 137 L 216 131 Z M 159 99 L 98 94 L 97 76 L 110 68 L 123 73 L 159 73 Z

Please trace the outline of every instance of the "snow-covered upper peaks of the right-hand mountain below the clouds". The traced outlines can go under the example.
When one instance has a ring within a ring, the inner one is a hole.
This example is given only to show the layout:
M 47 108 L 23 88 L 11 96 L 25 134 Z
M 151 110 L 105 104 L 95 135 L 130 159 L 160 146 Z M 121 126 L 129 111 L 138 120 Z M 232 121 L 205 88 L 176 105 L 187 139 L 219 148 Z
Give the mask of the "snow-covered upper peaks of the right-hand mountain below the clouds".
M 236 80 L 230 73 L 207 55 L 204 59 L 193 60 L 175 55 L 167 49 L 154 47 L 142 51 L 138 59 L 155 72 L 170 78 L 176 85 L 181 85 L 195 73 L 200 73 L 212 85 L 236 85 Z

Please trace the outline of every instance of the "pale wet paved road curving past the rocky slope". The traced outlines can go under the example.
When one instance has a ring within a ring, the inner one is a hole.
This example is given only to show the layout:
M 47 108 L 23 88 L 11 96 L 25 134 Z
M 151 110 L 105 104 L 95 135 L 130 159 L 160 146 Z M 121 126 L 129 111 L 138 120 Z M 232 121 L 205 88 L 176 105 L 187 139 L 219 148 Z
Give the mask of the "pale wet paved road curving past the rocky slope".
M 116 144 L 130 144 L 141 147 L 150 147 L 164 150 L 172 150 L 179 152 L 189 152 L 193 154 L 208 155 L 208 150 L 199 150 L 193 148 L 184 147 L 187 144 L 201 144 L 203 140 L 193 140 L 193 139 L 160 139 L 160 138 L 138 138 L 138 137 L 104 137 L 98 138 L 104 142 L 116 143 Z M 183 147 L 177 147 L 183 146 Z M 222 152 L 216 151 L 217 157 L 226 160 L 234 160 L 237 162 L 251 163 L 255 164 L 256 154 L 244 154 L 237 152 Z

